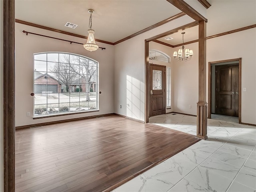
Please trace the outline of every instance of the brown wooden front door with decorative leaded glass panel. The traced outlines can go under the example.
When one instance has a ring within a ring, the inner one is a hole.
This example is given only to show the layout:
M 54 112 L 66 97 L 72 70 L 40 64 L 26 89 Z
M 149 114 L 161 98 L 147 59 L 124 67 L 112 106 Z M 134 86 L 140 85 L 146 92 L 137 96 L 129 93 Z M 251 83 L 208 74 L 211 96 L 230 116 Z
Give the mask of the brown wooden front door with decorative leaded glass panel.
M 165 114 L 165 72 L 166 66 L 150 64 L 150 117 Z

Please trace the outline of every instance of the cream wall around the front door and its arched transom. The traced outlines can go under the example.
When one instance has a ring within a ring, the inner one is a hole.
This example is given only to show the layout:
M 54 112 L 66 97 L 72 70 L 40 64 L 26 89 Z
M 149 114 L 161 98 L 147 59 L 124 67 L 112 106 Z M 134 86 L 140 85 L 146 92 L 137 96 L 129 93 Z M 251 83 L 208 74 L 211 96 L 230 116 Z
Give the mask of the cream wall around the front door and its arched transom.
M 162 45 L 162 44 L 159 44 L 159 43 L 156 43 L 156 42 L 149 42 L 149 49 L 154 49 L 154 50 L 158 50 L 158 51 L 161 51 L 161 52 L 164 52 L 165 54 L 167 54 L 170 58 L 169 58 L 169 63 L 165 63 L 165 62 L 160 62 L 160 61 L 155 61 L 155 60 L 149 60 L 149 63 L 151 64 L 157 64 L 157 65 L 162 65 L 162 66 L 166 66 L 166 67 L 170 67 L 171 68 L 171 89 L 172 89 L 172 86 L 173 86 L 173 74 L 174 74 L 174 67 L 173 67 L 173 63 L 172 62 L 172 48 L 169 47 L 169 46 L 165 46 L 165 45 Z M 167 78 L 167 76 L 166 76 Z M 170 112 L 173 112 L 173 92 L 171 91 L 171 108 L 166 108 L 166 113 L 170 113 Z

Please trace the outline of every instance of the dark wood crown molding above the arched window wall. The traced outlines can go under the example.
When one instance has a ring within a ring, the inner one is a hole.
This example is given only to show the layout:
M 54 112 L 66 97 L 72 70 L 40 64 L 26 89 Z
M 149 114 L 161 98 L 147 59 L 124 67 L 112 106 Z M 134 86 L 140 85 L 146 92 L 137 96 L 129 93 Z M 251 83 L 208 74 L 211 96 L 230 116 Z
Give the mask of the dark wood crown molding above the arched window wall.
M 58 29 L 55 29 L 55 28 L 52 28 L 52 27 L 46 27 L 46 26 L 43 26 L 43 25 L 39 25 L 39 24 L 35 24 L 35 23 L 31 23 L 31 22 L 27 22 L 27 21 L 23 21 L 23 20 L 19 20 L 19 19 L 15 19 L 15 22 L 16 23 L 20 23 L 20 24 L 24 24 L 24 25 L 28 25 L 28 26 L 32 26 L 32 27 L 37 27 L 37 28 L 40 28 L 40 29 L 45 29 L 45 30 L 49 30 L 49 31 L 65 34 L 65 35 L 79 37 L 79 38 L 83 38 L 83 39 L 87 39 L 88 38 L 87 36 L 83 36 L 83 35 L 67 32 L 67 31 L 63 31 L 63 30 L 58 30 Z M 108 41 L 99 40 L 99 39 L 95 39 L 95 41 L 96 42 L 100 42 L 100 43 L 106 43 L 106 44 L 114 45 L 114 43 L 111 43 L 111 42 L 108 42 Z

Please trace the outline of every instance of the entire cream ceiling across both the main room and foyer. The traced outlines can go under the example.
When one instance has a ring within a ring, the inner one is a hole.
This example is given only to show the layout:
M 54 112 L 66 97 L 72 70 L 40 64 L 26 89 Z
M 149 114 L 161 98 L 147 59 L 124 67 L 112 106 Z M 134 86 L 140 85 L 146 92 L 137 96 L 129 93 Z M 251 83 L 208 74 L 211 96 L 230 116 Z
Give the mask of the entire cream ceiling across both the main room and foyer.
M 256 24 L 256 0 L 209 0 L 207 36 Z M 181 11 L 166 0 L 16 0 L 15 18 L 87 36 L 90 14 L 95 38 L 116 42 Z M 76 29 L 66 22 L 78 24 Z M 184 30 L 184 42 L 198 39 L 198 26 Z M 181 31 L 170 35 L 182 43 Z

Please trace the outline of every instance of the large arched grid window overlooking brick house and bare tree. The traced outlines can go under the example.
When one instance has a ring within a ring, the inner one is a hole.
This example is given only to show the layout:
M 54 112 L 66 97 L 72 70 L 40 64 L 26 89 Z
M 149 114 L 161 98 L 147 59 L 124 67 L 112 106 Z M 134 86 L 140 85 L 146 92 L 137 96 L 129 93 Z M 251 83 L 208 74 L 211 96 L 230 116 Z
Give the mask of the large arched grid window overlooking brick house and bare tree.
M 34 116 L 98 110 L 98 62 L 84 56 L 34 54 Z

